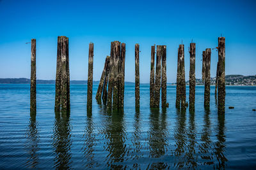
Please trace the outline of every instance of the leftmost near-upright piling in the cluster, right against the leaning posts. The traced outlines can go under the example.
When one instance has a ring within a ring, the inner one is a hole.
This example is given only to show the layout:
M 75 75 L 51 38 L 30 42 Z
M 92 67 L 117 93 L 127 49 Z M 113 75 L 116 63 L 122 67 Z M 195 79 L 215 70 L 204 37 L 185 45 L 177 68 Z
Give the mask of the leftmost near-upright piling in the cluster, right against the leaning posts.
M 110 49 L 110 59 L 109 59 L 109 76 L 108 76 L 108 103 L 107 108 L 110 111 L 112 109 L 112 92 L 113 92 L 113 81 L 114 81 L 114 73 L 113 73 L 113 62 L 114 62 L 114 42 L 111 42 Z

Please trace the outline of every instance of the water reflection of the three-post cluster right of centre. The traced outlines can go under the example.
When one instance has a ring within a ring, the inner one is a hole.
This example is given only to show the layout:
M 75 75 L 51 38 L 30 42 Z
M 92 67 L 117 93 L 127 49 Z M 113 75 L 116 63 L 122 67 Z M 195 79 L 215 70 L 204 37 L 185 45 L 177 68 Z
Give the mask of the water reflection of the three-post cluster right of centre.
M 160 115 L 159 108 L 150 108 L 150 129 L 148 131 L 149 153 L 152 158 L 160 158 L 167 152 L 168 129 L 166 122 L 166 109 L 162 109 Z M 159 159 L 157 159 L 159 160 Z M 147 169 L 164 169 L 168 165 L 166 162 L 154 162 L 148 164 Z

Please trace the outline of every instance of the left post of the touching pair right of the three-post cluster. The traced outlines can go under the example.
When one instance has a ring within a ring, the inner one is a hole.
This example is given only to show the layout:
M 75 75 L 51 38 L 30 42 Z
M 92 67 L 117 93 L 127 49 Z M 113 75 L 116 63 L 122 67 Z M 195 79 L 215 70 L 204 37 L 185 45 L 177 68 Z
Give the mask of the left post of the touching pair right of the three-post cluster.
M 178 48 L 177 81 L 176 81 L 176 108 L 180 108 L 180 47 Z

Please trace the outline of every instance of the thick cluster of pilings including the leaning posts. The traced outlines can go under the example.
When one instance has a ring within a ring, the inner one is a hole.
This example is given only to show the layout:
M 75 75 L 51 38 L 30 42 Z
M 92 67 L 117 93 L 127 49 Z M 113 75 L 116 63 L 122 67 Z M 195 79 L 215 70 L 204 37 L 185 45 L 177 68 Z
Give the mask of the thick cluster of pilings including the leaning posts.
M 111 42 L 110 57 L 107 56 L 96 94 L 98 103 L 101 98 L 108 110 L 124 108 L 125 43 Z M 108 92 L 107 92 L 108 88 Z M 92 95 L 91 95 L 92 96 Z

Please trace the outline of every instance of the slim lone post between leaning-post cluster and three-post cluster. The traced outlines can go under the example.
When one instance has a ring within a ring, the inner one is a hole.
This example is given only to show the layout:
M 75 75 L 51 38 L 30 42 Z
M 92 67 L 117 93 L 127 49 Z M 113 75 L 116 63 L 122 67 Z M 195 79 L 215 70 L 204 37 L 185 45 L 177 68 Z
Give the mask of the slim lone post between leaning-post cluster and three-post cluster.
M 140 45 L 135 45 L 135 107 L 140 108 Z

